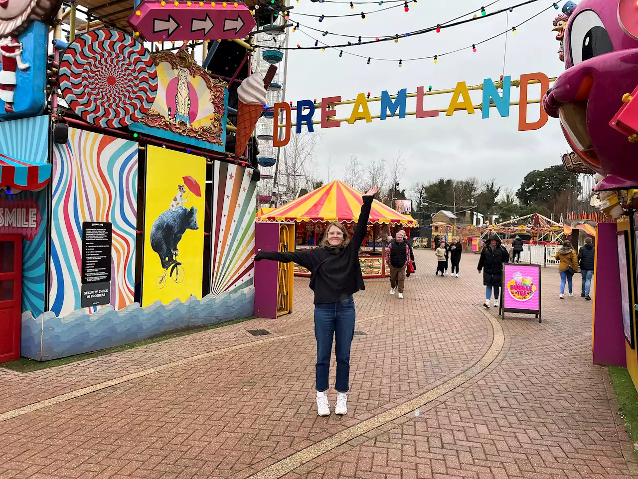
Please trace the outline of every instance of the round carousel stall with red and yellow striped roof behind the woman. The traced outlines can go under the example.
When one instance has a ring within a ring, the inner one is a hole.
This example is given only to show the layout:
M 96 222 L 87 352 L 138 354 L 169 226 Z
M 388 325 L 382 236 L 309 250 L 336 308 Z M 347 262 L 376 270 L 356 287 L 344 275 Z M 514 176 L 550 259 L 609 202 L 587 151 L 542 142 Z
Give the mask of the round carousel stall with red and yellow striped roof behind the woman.
M 320 186 L 279 208 L 262 208 L 257 222 L 295 225 L 295 249 L 316 248 L 321 244 L 327 225 L 339 221 L 350 235 L 359 219 L 363 194 L 345 183 L 335 180 Z M 419 223 L 410 215 L 403 215 L 375 200 L 368 221 L 367 236 L 361 247 L 359 260 L 364 278 L 384 278 L 390 274 L 385 261 L 385 242 L 403 229 L 410 238 L 410 229 Z M 295 265 L 296 276 L 310 276 L 310 271 Z

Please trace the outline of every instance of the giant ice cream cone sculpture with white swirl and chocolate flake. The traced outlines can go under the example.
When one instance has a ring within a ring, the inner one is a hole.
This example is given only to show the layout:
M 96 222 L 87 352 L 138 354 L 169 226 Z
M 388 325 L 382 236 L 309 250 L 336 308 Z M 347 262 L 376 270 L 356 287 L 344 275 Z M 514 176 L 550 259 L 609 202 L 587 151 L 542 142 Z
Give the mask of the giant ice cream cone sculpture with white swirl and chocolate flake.
M 271 65 L 262 78 L 261 73 L 255 72 L 241 82 L 237 89 L 239 108 L 237 109 L 237 133 L 235 133 L 235 156 L 242 156 L 255 125 L 262 116 L 266 103 L 266 91 L 271 85 L 277 72 L 277 67 Z

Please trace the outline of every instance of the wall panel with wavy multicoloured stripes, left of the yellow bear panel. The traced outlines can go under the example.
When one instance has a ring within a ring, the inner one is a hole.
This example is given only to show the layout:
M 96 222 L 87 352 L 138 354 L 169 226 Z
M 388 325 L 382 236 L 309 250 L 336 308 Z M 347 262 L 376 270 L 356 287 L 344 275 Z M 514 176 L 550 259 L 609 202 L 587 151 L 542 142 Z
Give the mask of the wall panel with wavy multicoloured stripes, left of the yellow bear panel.
M 137 155 L 136 142 L 75 128 L 54 146 L 49 309 L 58 317 L 80 309 L 85 221 L 112 223 L 110 304 L 133 303 Z

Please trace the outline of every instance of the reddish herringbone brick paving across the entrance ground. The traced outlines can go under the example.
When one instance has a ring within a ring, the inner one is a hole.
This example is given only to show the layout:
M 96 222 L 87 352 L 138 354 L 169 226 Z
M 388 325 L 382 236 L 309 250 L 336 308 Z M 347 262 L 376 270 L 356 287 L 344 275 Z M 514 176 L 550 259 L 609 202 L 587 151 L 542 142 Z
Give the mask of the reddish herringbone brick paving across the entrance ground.
M 488 353 L 498 331 L 479 308 L 475 255 L 463 256 L 460 279 L 434 277 L 431 251 L 417 260 L 405 300 L 382 280 L 355 297 L 365 334 L 353 342 L 348 416 L 316 416 L 312 298 L 299 279 L 294 314 L 276 321 L 29 374 L 0 369 L 3 413 L 238 346 L 0 422 L 0 478 L 246 478 L 445 384 Z M 286 477 L 638 477 L 609 378 L 591 365 L 591 302 L 558 300 L 556 270 L 543 271 L 543 285 L 543 323 L 500 321 L 504 346 L 477 376 Z M 276 339 L 246 333 L 256 328 Z

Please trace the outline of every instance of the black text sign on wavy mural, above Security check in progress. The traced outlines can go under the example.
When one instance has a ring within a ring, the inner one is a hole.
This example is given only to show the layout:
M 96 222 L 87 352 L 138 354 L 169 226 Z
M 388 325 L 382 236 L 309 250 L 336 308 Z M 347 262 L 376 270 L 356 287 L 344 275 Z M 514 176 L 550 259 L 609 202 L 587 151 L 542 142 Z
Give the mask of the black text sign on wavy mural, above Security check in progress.
M 110 223 L 82 223 L 82 284 L 110 283 L 111 238 Z

